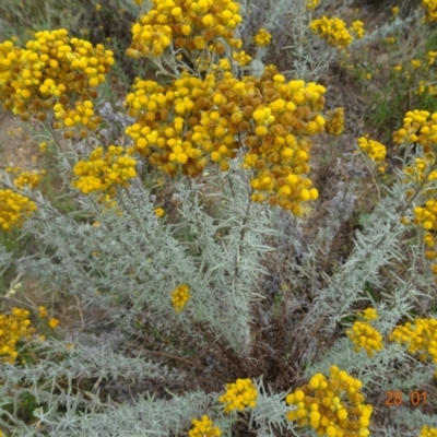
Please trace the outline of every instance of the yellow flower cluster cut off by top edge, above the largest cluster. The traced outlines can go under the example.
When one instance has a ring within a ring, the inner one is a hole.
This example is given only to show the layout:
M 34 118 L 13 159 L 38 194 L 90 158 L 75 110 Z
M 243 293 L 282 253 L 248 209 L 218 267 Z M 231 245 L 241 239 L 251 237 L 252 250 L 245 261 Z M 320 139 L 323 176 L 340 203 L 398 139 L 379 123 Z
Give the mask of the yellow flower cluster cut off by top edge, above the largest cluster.
M 233 0 L 152 0 L 153 7 L 132 26 L 128 56 L 161 56 L 172 42 L 176 49 L 203 50 L 223 55 L 224 39 L 233 48 L 243 43 L 235 38 L 241 22 L 239 4 Z

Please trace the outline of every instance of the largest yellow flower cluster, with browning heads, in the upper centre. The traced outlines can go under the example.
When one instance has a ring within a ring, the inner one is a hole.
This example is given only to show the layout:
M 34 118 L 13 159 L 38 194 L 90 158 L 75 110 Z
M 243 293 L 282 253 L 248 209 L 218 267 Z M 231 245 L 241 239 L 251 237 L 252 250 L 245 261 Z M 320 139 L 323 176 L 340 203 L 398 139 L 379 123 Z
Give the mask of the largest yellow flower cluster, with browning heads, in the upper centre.
M 170 85 L 138 80 L 126 98 L 137 122 L 127 128 L 133 147 L 161 170 L 196 177 L 213 162 L 225 172 L 228 161 L 244 149 L 244 165 L 253 170 L 252 201 L 302 215 L 302 202 L 318 192 L 305 177 L 309 173 L 310 137 L 324 130 L 339 134 L 343 109 L 327 123 L 321 110 L 326 88 L 314 82 L 285 82 L 273 66 L 261 78 L 238 80 L 182 73 Z M 239 141 L 237 141 L 239 139 Z

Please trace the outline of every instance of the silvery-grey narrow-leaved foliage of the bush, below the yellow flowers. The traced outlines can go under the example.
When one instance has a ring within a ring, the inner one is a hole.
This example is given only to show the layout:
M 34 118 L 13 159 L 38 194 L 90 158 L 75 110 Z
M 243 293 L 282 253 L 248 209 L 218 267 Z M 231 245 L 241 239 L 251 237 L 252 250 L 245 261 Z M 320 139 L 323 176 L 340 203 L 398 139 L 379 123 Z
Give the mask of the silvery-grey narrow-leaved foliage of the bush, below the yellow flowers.
M 417 300 L 426 297 L 424 291 L 432 290 L 432 279 L 423 277 L 414 268 L 422 252 L 420 246 L 413 245 L 409 253 L 413 263 L 409 280 L 402 281 L 392 271 L 392 284 L 397 285 L 383 291 L 380 270 L 390 269 L 405 256 L 400 248 L 405 228 L 399 223 L 405 204 L 403 182 L 388 190 L 363 232 L 357 232 L 354 251 L 328 277 L 323 272 L 315 273 L 317 238 L 311 240 L 304 235 L 304 222 L 249 203 L 244 176 L 237 162 L 232 162 L 231 170 L 224 175 L 210 170 L 202 181 L 181 179 L 174 194 L 179 217 L 172 225 L 154 214 L 156 199 L 135 187 L 118 200 L 122 215 L 116 210 L 108 211 L 93 197 L 78 197 L 81 211 L 90 214 L 98 226 L 78 221 L 74 215 L 62 215 L 40 194 L 32 193 L 38 202 L 38 213 L 26 222 L 24 233 L 38 241 L 40 252 L 38 257 L 13 260 L 12 255 L 0 249 L 0 265 L 13 262 L 19 275 L 31 274 L 49 288 L 62 290 L 66 299 L 73 296 L 83 309 L 98 308 L 102 316 L 78 319 L 66 336 L 74 347 L 54 339 L 35 343 L 35 352 L 42 357 L 37 365 L 0 368 L 0 379 L 4 381 L 0 389 L 3 405 L 19 402 L 28 392 L 40 405 L 50 405 L 34 411 L 40 428 L 25 424 L 16 412 L 8 413 L 4 409 L 0 411 L 8 421 L 0 418 L 0 426 L 20 436 L 105 436 L 110 435 L 110 429 L 123 429 L 132 436 L 176 436 L 189 428 L 192 417 L 211 414 L 209 405 L 220 393 L 205 393 L 193 387 L 192 392 L 175 394 L 174 387 L 177 390 L 189 385 L 189 374 L 165 366 L 147 350 L 129 349 L 132 336 L 141 333 L 152 339 L 156 331 L 163 335 L 177 332 L 198 347 L 208 347 L 202 332 L 196 329 L 200 323 L 243 358 L 251 346 L 255 315 L 250 308 L 263 296 L 282 293 L 284 280 L 291 290 L 312 287 L 311 305 L 297 294 L 285 297 L 287 329 L 293 335 L 303 336 L 318 321 L 321 327 L 318 334 L 332 338 L 338 324 L 354 314 L 354 307 L 371 300 L 364 291 L 366 282 L 382 290 L 381 302 L 374 303 L 379 318 L 373 323 L 383 335 L 410 317 Z M 355 199 L 353 186 L 350 189 L 346 192 L 344 185 L 339 186 L 328 222 L 341 222 L 351 214 Z M 220 210 L 210 211 L 208 199 L 214 199 Z M 273 224 L 279 231 L 274 231 Z M 267 240 L 277 240 L 276 256 L 283 269 L 270 272 L 260 295 L 257 283 L 268 274 L 262 264 L 272 251 Z M 178 315 L 172 307 L 170 293 L 180 283 L 190 285 L 192 297 Z M 262 308 L 258 314 L 268 329 L 272 314 Z M 82 323 L 86 332 L 82 331 Z M 345 338 L 329 346 L 317 338 L 306 339 L 302 359 L 307 363 L 303 369 L 307 377 L 316 371 L 327 374 L 332 364 L 339 364 L 358 377 L 366 390 L 382 392 L 397 387 L 408 395 L 414 387 L 428 383 L 433 373 L 430 365 L 417 362 L 398 344 L 386 344 L 370 358 L 364 352 L 355 353 Z M 176 345 L 161 346 L 164 353 L 176 352 Z M 275 351 L 270 349 L 274 355 Z M 206 355 L 205 362 L 205 371 L 213 377 L 220 366 L 211 355 Z M 402 368 L 393 371 L 399 362 L 403 363 Z M 91 391 L 74 386 L 74 381 L 85 378 L 94 383 Z M 67 386 L 59 385 L 59 380 L 67 381 Z M 19 382 L 22 388 L 12 390 Z M 251 412 L 250 426 L 260 436 L 276 435 L 273 427 L 296 433 L 285 418 L 288 410 L 285 393 L 268 392 L 262 379 L 256 380 L 256 385 L 260 397 Z M 432 416 L 414 414 L 410 423 L 415 428 L 433 423 Z M 213 414 L 214 423 L 225 436 L 231 436 L 234 418 Z M 298 433 L 310 435 L 300 429 Z M 394 428 L 387 434 L 397 435 Z

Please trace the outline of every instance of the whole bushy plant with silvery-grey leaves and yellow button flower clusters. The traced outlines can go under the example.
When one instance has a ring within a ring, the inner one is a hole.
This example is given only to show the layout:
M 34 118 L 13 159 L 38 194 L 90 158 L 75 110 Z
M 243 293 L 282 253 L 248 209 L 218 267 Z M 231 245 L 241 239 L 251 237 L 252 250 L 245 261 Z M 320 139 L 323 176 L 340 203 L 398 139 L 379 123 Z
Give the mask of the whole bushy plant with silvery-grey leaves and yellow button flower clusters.
M 354 138 L 331 196 L 315 170 L 347 109 L 261 61 L 283 4 L 245 38 L 245 1 L 131 3 L 125 55 L 157 74 L 117 104 L 120 52 L 64 28 L 0 43 L 0 101 L 49 164 L 0 169 L 0 429 L 363 437 L 405 417 L 433 435 L 432 412 L 378 399 L 436 375 L 437 113 L 409 110 L 393 151 Z M 323 2 L 294 8 L 294 44 L 346 57 L 370 38 Z M 356 218 L 363 180 L 375 204 Z

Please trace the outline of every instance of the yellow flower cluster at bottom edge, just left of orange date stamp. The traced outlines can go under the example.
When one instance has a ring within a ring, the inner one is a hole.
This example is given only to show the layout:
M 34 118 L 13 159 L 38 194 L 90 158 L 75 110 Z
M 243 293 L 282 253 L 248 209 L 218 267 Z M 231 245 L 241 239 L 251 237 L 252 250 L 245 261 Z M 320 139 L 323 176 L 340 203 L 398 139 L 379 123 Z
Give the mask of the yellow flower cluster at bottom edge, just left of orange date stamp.
M 336 366 L 330 368 L 330 379 L 322 374 L 312 376 L 308 385 L 286 397 L 287 418 L 298 426 L 309 425 L 318 436 L 366 437 L 373 408 L 364 404 L 359 393 L 362 382 Z

